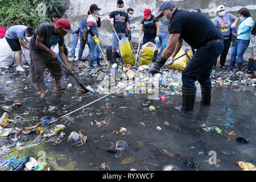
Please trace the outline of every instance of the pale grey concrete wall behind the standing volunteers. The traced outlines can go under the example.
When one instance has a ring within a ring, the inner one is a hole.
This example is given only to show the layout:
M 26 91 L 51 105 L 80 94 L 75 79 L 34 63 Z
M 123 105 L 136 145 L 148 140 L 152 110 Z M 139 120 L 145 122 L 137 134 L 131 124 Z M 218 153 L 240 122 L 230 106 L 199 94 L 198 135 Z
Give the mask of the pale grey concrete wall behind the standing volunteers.
M 160 3 L 164 1 L 159 0 L 123 0 L 125 3 L 125 9 L 131 7 L 134 9 L 134 18 L 130 20 L 132 30 L 132 43 L 137 43 L 139 38 L 139 29 L 141 20 L 143 19 L 144 9 L 151 9 L 153 14 L 156 14 Z M 172 1 L 177 4 L 179 0 Z M 112 46 L 112 27 L 109 22 L 105 20 L 105 17 L 110 12 L 116 10 L 117 0 L 63 0 L 66 6 L 65 18 L 71 21 L 72 28 L 79 27 L 80 20 L 87 17 L 87 11 L 91 4 L 97 4 L 101 8 L 101 28 L 99 40 L 104 46 Z M 216 16 L 216 7 L 224 5 L 226 11 L 237 16 L 237 11 L 242 7 L 249 9 L 251 16 L 256 21 L 256 1 L 255 0 L 181 0 L 179 9 L 183 10 L 194 10 L 201 9 L 203 14 L 207 15 L 210 19 Z M 65 41 L 68 46 L 72 46 L 73 37 L 67 35 Z M 186 45 L 185 45 L 186 46 Z M 245 59 L 250 57 L 252 52 L 251 44 L 245 53 Z

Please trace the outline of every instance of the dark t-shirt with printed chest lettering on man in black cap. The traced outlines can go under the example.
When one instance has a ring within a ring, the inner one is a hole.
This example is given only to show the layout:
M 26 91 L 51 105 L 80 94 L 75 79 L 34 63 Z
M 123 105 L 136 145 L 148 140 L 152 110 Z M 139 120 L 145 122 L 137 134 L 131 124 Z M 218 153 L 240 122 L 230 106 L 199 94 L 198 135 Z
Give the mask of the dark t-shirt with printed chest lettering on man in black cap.
M 109 14 L 110 18 L 114 18 L 114 28 L 117 33 L 125 33 L 126 22 L 129 22 L 129 16 L 125 12 L 113 11 Z

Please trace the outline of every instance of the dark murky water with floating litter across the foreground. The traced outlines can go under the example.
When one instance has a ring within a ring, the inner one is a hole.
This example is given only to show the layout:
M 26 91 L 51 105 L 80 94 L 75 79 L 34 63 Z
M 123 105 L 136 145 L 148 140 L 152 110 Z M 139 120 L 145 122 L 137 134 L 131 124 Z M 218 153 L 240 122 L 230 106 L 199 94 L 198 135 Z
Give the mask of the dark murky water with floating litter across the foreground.
M 32 85 L 30 78 L 22 76 L 4 76 L 0 78 L 0 101 L 7 100 L 0 105 L 12 105 L 21 102 L 20 107 L 13 107 L 12 113 L 20 114 L 25 118 L 38 117 L 31 123 L 36 123 L 43 116 L 53 115 L 60 117 L 83 105 L 88 104 L 104 95 L 89 94 L 83 95 L 77 92 L 80 89 L 72 77 L 63 79 L 63 85 L 72 83 L 73 88 L 67 92 L 56 92 L 55 82 L 46 77 L 44 89 L 51 90 L 47 93 L 45 100 L 39 100 L 38 89 Z M 11 81 L 11 82 L 8 82 Z M 92 81 L 86 78 L 85 81 Z M 9 85 L 9 86 L 7 86 Z M 27 85 L 27 86 L 26 86 Z M 25 89 L 24 88 L 28 88 Z M 150 101 L 148 103 L 148 101 Z M 168 96 L 166 102 L 160 100 L 148 100 L 147 94 L 131 94 L 131 97 L 112 97 L 90 105 L 91 115 L 83 111 L 71 116 L 75 117 L 64 129 L 65 137 L 63 142 L 55 146 L 49 143 L 26 148 L 23 155 L 31 155 L 38 158 L 38 151 L 46 151 L 47 160 L 56 160 L 51 169 L 53 170 L 103 170 L 102 163 L 108 163 L 111 170 L 162 170 L 166 164 L 174 164 L 180 170 L 195 170 L 187 168 L 185 159 L 192 157 L 199 170 L 241 170 L 236 165 L 238 161 L 245 161 L 256 164 L 256 114 L 255 94 L 249 90 L 241 89 L 235 92 L 233 87 L 214 87 L 212 94 L 212 105 L 202 106 L 198 98 L 193 113 L 181 112 L 175 107 L 182 104 L 180 95 Z M 106 107 L 110 103 L 112 106 Z M 146 104 L 148 104 L 146 106 Z M 66 113 L 63 106 L 68 105 Z M 155 111 L 144 111 L 145 107 L 155 106 Z M 49 113 L 46 107 L 57 106 L 60 113 Z M 120 109 L 118 107 L 127 107 Z M 46 111 L 43 113 L 44 109 Z M 0 108 L 0 113 L 4 110 Z M 99 114 L 102 113 L 102 114 Z M 81 117 L 83 115 L 83 117 Z M 100 127 L 95 125 L 94 120 L 102 121 L 109 119 L 108 126 Z M 93 125 L 91 125 L 93 122 Z M 140 122 L 144 123 L 144 126 Z M 168 122 L 166 125 L 164 122 Z M 224 135 L 202 130 L 200 125 L 207 127 L 217 126 Z M 61 123 L 60 123 L 61 124 Z M 24 126 L 28 126 L 24 123 Z M 156 130 L 160 126 L 162 130 Z M 128 132 L 125 135 L 115 135 L 125 127 Z M 67 143 L 68 135 L 72 131 L 85 130 L 88 140 L 83 146 L 71 146 Z M 227 133 L 234 131 L 235 136 Z M 250 140 L 247 144 L 235 141 L 239 135 Z M 230 138 L 230 139 L 229 139 Z M 110 142 L 126 140 L 129 147 L 121 152 L 119 158 L 106 154 L 111 146 Z M 175 157 L 167 155 L 167 150 Z M 210 158 L 209 151 L 216 151 L 217 165 L 210 165 L 207 160 Z M 121 164 L 124 159 L 134 158 L 135 162 Z

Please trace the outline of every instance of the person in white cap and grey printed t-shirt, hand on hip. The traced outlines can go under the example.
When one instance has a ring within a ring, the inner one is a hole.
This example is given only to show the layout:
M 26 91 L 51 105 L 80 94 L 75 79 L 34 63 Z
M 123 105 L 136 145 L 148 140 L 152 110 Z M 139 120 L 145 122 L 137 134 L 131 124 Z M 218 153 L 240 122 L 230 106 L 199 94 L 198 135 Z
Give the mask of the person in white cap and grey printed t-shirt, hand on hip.
M 224 5 L 218 6 L 216 11 L 218 16 L 213 18 L 212 22 L 218 28 L 218 30 L 220 30 L 222 36 L 224 37 L 224 49 L 221 53 L 219 69 L 228 69 L 228 67 L 225 66 L 225 62 L 226 55 L 228 55 L 230 43 L 232 40 L 232 34 L 230 34 L 230 31 L 231 28 L 236 27 L 238 18 L 232 14 L 226 13 Z M 233 21 L 234 23 L 232 23 Z M 214 64 L 214 67 L 216 67 L 216 64 L 217 61 Z

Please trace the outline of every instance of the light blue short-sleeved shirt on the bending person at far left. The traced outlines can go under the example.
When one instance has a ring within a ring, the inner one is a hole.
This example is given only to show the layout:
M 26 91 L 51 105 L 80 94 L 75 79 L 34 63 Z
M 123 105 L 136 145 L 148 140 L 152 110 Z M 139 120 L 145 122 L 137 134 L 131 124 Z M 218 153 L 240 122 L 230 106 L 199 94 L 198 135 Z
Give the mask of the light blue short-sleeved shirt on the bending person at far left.
M 8 39 L 23 40 L 26 36 L 25 35 L 26 29 L 27 29 L 27 26 L 24 26 L 24 25 L 12 26 L 6 31 L 5 37 Z

